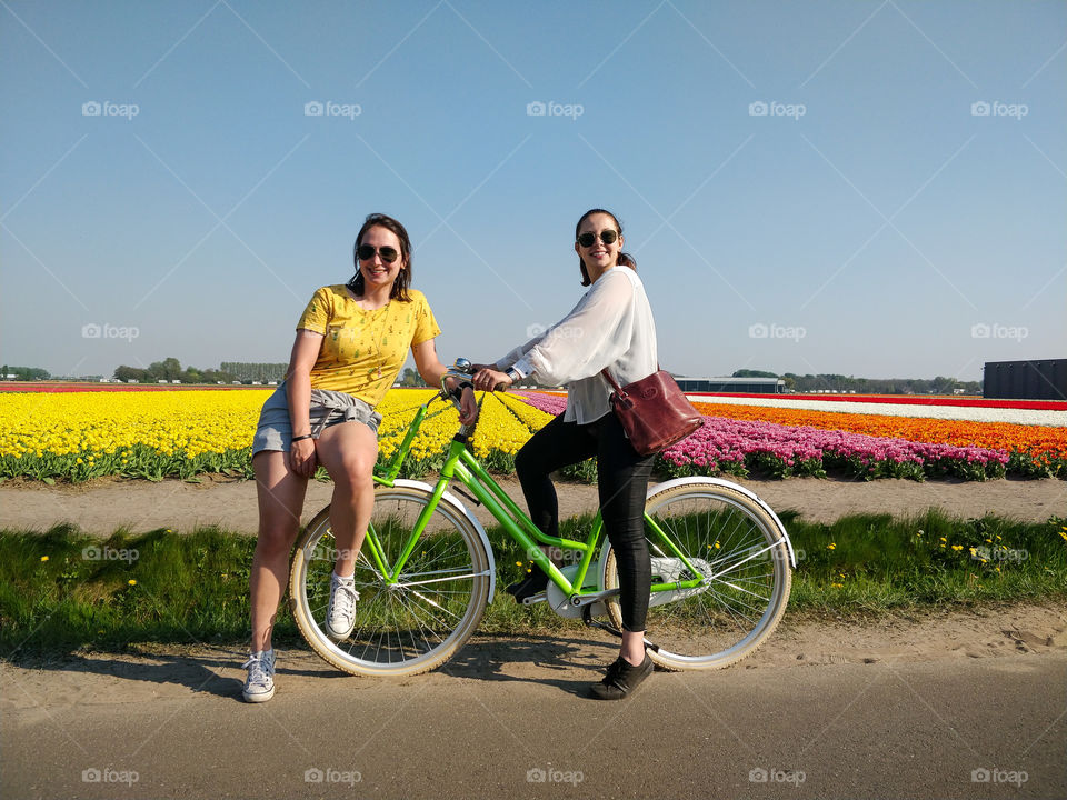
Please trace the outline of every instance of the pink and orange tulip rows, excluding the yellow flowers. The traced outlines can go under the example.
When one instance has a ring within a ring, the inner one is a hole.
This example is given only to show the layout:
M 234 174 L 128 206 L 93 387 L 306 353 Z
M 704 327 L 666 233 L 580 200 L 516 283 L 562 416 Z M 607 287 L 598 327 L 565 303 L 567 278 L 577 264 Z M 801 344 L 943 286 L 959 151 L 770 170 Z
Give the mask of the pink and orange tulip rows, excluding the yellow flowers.
M 560 396 L 527 393 L 525 400 L 549 413 L 566 407 L 566 398 Z M 697 403 L 697 408 L 705 414 L 704 427 L 657 458 L 661 473 L 680 477 L 758 471 L 776 477 L 822 477 L 834 471 L 865 479 L 955 476 L 985 480 L 1007 473 L 1067 478 L 1067 440 L 1058 429 L 1034 432 L 1031 426 L 709 403 Z M 804 419 L 814 424 L 787 424 L 766 418 Z M 968 440 L 968 434 L 974 439 Z

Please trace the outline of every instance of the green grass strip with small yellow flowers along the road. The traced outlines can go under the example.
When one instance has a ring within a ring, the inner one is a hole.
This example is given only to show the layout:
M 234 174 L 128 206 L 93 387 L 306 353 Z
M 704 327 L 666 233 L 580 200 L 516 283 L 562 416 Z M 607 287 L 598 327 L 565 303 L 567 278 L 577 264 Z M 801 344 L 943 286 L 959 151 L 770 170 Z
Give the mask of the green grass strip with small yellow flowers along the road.
M 1067 599 L 1065 519 L 965 520 L 930 511 L 822 524 L 781 517 L 799 559 L 788 614 L 869 618 L 945 604 Z M 568 520 L 562 536 L 585 538 L 589 523 L 587 517 Z M 480 632 L 580 626 L 503 594 L 530 563 L 500 529 L 489 537 L 498 594 Z M 0 531 L 0 656 L 116 650 L 132 642 L 243 643 L 255 543 L 216 528 L 190 534 L 119 530 L 106 540 L 71 526 Z M 300 641 L 287 604 L 275 638 Z

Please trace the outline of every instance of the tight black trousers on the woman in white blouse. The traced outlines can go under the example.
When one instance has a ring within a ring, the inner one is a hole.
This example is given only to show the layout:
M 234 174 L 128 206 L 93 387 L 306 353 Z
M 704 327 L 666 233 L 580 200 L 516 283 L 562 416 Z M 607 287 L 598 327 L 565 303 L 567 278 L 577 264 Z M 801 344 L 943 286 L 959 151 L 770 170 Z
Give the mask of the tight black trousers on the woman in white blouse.
M 645 493 L 652 456 L 638 456 L 615 414 L 588 424 L 564 422 L 560 414 L 515 457 L 516 471 L 530 509 L 530 519 L 548 536 L 559 536 L 559 503 L 549 473 L 597 457 L 600 516 L 619 569 L 622 627 L 645 630 L 651 567 L 645 541 Z

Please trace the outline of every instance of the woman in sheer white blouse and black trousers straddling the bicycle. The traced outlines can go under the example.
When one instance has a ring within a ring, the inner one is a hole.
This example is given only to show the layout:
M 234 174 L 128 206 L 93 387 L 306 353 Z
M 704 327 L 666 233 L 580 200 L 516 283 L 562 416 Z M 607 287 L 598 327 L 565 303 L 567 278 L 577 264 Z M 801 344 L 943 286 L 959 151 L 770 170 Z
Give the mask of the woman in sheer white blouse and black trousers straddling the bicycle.
M 601 369 L 625 386 L 658 369 L 656 327 L 637 263 L 622 252 L 622 228 L 604 209 L 582 214 L 575 229 L 582 286 L 590 286 L 574 310 L 540 337 L 516 348 L 491 367 L 479 366 L 475 388 L 492 390 L 531 377 L 545 386 L 567 384 L 567 410 L 535 433 L 515 459 L 530 518 L 545 533 L 559 536 L 559 508 L 549 474 L 597 458 L 600 512 L 619 569 L 622 646 L 594 697 L 619 700 L 652 671 L 645 652 L 645 617 L 651 584 L 645 540 L 645 494 L 651 456 L 639 456 L 608 402 Z M 548 576 L 535 570 L 508 587 L 517 601 L 545 589 Z

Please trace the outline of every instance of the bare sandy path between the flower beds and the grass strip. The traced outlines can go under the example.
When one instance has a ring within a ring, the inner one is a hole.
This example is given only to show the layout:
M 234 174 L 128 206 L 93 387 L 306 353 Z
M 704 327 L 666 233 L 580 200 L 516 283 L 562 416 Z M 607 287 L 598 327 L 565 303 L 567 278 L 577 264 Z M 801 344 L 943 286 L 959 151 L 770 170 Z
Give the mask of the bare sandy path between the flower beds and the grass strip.
M 889 479 L 862 482 L 790 478 L 737 482 L 755 491 L 776 511 L 796 509 L 806 519 L 821 522 L 832 522 L 849 513 L 904 516 L 928 508 L 964 518 L 986 513 L 1033 521 L 1045 521 L 1053 514 L 1067 517 L 1067 482 L 1059 480 L 917 483 Z M 518 482 L 502 479 L 500 483 L 525 508 Z M 559 483 L 557 488 L 562 516 L 596 509 L 596 487 Z M 331 484 L 312 481 L 305 521 L 329 502 L 331 491 Z M 475 511 L 483 523 L 490 521 L 483 509 Z M 0 528 L 47 530 L 68 521 L 94 534 L 111 533 L 123 524 L 132 531 L 157 528 L 189 531 L 197 526 L 218 524 L 227 530 L 255 533 L 256 513 L 256 486 L 251 481 L 208 477 L 202 483 L 99 479 L 53 487 L 28 482 L 0 484 Z

